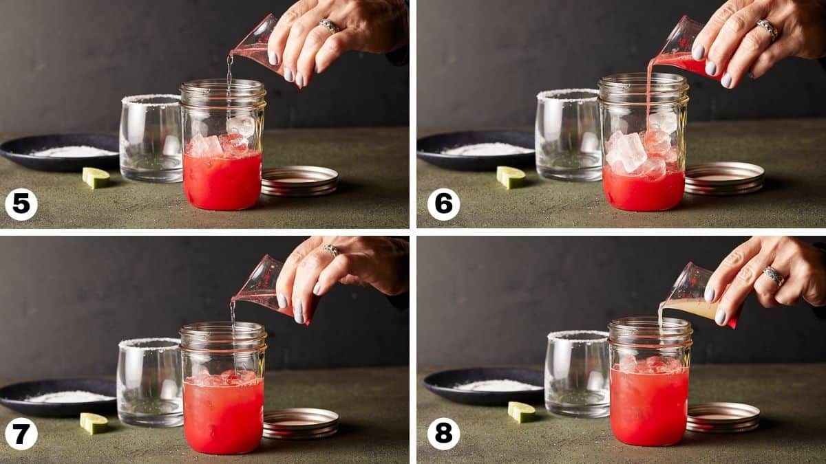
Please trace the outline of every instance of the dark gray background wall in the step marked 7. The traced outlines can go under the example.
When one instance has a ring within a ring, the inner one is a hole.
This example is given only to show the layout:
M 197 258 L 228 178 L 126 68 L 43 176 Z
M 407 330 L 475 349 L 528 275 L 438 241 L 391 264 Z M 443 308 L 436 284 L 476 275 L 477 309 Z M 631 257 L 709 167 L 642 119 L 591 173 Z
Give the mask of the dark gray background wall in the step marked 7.
M 229 320 L 264 254 L 301 237 L 0 238 L 4 376 L 114 374 L 117 343 L 177 337 L 184 324 Z M 310 327 L 253 303 L 237 320 L 268 329 L 267 368 L 407 365 L 409 317 L 373 289 L 336 286 Z

